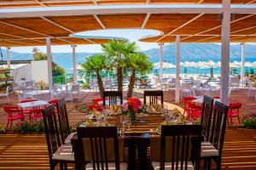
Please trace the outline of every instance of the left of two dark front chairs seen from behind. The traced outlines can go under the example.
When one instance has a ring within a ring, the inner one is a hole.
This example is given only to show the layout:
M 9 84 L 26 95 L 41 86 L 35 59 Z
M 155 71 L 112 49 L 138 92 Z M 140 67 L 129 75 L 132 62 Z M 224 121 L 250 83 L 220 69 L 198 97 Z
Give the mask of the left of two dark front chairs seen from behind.
M 119 161 L 119 139 L 117 133 L 117 127 L 78 127 L 78 150 L 79 153 L 75 153 L 76 157 L 80 159 L 76 160 L 76 169 L 84 169 L 84 164 L 86 164 L 85 169 L 116 169 L 116 170 L 126 170 L 127 165 Z M 89 142 L 87 145 L 84 144 L 86 141 Z M 109 144 L 109 139 L 113 142 Z M 90 145 L 90 149 L 89 146 Z M 87 149 L 87 150 L 86 150 Z M 109 150 L 113 150 L 111 156 L 109 156 Z M 90 163 L 86 161 L 87 155 L 90 155 Z

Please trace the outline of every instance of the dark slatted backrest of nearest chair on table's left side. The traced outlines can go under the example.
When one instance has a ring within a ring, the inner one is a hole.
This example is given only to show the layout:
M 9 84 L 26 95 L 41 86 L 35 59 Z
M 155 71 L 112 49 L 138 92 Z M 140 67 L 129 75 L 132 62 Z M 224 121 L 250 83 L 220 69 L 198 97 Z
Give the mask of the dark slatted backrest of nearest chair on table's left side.
M 49 107 L 43 110 L 44 117 L 44 129 L 48 146 L 49 160 L 51 161 L 55 151 L 58 150 L 60 144 L 57 122 L 55 119 L 55 106 L 49 105 Z

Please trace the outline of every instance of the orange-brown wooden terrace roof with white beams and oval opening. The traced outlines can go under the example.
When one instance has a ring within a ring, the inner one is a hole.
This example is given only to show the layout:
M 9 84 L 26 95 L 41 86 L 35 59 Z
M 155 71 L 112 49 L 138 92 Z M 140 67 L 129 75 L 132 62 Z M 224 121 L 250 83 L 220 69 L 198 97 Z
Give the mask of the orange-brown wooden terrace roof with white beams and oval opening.
M 117 10 L 116 8 L 113 8 L 113 11 Z M 162 32 L 162 35 L 157 37 L 140 39 L 143 42 L 175 42 L 177 35 L 180 35 L 180 42 L 221 40 L 219 14 L 161 14 L 161 11 L 154 14 L 154 8 L 153 13 L 149 14 L 137 8 L 131 9 L 135 12 L 131 13 L 131 10 L 126 8 L 127 14 L 123 14 L 122 10 L 109 14 L 112 10 L 102 8 L 100 14 L 94 14 L 96 12 L 88 8 L 82 11 L 91 11 L 91 14 L 76 14 L 77 11 L 71 9 L 47 13 L 43 9 L 41 12 L 37 9 L 38 12 L 34 13 L 24 11 L 19 14 L 0 14 L 0 46 L 43 46 L 47 37 L 51 38 L 52 45 L 104 43 L 108 42 L 108 39 L 75 38 L 70 37 L 70 34 L 121 28 L 153 29 Z M 256 14 L 234 14 L 234 20 L 230 24 L 230 42 L 256 42 L 255 26 Z

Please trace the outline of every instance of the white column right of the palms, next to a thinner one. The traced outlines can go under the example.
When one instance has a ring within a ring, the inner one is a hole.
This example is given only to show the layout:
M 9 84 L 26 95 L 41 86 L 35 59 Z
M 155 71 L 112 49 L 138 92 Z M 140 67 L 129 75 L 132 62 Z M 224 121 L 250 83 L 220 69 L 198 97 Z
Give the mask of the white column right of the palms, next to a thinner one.
M 179 102 L 179 68 L 180 67 L 180 37 L 176 37 L 176 84 L 175 84 L 175 102 Z

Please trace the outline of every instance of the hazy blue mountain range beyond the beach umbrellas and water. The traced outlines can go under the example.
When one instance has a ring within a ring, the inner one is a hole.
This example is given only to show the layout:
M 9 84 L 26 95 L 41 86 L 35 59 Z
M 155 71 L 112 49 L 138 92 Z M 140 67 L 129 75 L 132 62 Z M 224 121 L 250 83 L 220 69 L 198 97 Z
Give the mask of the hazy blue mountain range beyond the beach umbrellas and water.
M 163 47 L 163 60 L 166 62 L 176 63 L 175 55 L 176 49 L 175 44 L 166 44 Z M 143 51 L 147 54 L 152 62 L 158 62 L 160 56 L 159 48 L 151 48 Z M 6 59 L 6 51 L 2 48 L 3 60 Z M 11 51 L 11 59 L 32 59 L 32 54 L 29 53 L 16 53 Z M 181 46 L 181 60 L 209 60 L 218 61 L 220 59 L 221 46 L 217 43 L 183 43 Z M 92 53 L 77 53 L 76 62 L 77 64 L 84 62 L 85 56 L 90 56 Z M 56 64 L 61 65 L 66 71 L 70 71 L 73 68 L 73 55 L 72 53 L 52 53 L 52 58 Z M 241 45 L 232 44 L 230 45 L 230 60 L 241 60 Z M 246 60 L 256 60 L 256 45 L 246 45 Z

